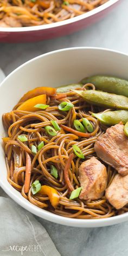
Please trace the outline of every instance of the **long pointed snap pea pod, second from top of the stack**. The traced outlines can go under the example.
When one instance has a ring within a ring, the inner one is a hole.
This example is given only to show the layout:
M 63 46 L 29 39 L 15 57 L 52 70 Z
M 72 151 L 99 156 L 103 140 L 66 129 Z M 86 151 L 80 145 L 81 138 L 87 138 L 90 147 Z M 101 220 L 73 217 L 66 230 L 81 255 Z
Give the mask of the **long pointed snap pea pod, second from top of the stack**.
M 117 108 L 120 110 L 128 110 L 128 98 L 123 95 L 117 95 L 107 92 L 95 90 L 72 90 L 85 99 L 87 103 L 96 106 L 105 106 L 108 108 Z

